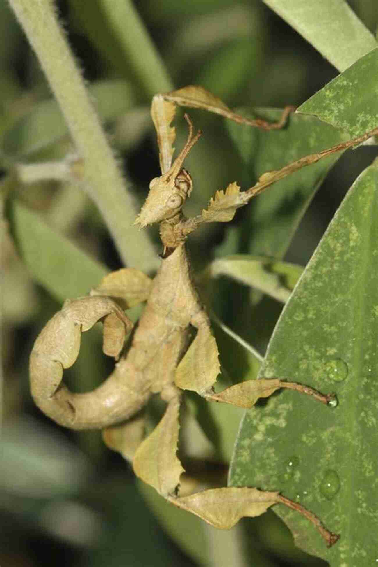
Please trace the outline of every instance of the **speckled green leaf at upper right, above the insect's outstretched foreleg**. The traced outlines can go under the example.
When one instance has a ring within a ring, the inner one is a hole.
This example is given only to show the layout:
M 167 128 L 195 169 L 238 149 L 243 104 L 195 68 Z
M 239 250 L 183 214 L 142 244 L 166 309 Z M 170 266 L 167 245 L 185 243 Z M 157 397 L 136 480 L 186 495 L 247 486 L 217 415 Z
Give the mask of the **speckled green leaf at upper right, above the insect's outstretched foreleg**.
M 378 47 L 301 104 L 312 114 L 356 137 L 378 124 Z

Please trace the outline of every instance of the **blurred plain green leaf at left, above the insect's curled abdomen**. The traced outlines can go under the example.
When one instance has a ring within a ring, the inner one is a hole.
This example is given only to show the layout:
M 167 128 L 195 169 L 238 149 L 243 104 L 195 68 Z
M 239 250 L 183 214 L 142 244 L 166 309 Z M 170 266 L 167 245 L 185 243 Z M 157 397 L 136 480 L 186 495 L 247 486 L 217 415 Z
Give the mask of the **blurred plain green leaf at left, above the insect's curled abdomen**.
M 86 295 L 108 273 L 70 240 L 17 201 L 10 204 L 11 232 L 33 278 L 59 301 Z

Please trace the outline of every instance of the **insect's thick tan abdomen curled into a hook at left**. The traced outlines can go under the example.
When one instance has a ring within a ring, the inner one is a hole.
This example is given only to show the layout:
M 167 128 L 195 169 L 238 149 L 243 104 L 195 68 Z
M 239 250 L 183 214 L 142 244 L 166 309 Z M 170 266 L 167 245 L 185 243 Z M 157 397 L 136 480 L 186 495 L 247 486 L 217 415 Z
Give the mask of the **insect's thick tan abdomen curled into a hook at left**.
M 66 427 L 103 428 L 117 419 L 124 420 L 131 412 L 136 413 L 144 401 L 143 393 L 133 399 L 130 392 L 126 398 L 120 388 L 117 367 L 113 375 L 92 392 L 73 393 L 62 382 L 63 369 L 72 366 L 78 357 L 81 333 L 101 319 L 104 320 L 104 351 L 117 357 L 132 323 L 109 297 L 67 301 L 33 345 L 29 361 L 32 396 L 46 415 Z

